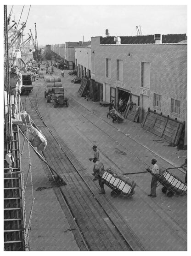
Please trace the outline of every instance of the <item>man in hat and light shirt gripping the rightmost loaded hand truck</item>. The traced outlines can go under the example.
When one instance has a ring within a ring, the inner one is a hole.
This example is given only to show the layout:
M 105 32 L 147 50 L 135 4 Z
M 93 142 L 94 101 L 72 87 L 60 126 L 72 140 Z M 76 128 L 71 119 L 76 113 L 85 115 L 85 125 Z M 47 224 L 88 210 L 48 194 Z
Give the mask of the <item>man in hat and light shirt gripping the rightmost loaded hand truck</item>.
M 149 194 L 148 196 L 151 197 L 156 197 L 156 189 L 157 189 L 157 175 L 159 174 L 159 167 L 156 164 L 157 160 L 156 159 L 152 159 L 151 163 L 153 165 L 152 170 L 150 170 L 149 168 L 147 168 L 146 170 L 150 173 L 152 173 L 152 180 L 151 180 L 151 194 Z

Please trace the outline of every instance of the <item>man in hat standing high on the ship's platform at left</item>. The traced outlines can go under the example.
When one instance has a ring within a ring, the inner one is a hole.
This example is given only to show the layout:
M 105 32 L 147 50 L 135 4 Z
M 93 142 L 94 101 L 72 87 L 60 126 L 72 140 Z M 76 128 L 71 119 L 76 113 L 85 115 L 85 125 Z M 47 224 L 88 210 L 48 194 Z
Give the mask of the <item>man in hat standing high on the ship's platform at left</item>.
M 16 118 L 17 114 L 17 95 L 21 94 L 22 74 L 19 72 L 18 66 L 11 68 L 10 72 L 10 92 L 12 104 L 12 118 Z

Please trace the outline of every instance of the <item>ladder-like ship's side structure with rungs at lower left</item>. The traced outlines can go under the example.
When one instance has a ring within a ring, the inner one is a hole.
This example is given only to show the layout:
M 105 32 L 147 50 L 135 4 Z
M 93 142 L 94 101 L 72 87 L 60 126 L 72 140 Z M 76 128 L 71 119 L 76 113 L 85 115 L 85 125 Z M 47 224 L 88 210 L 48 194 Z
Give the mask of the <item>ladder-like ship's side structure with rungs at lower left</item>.
M 12 132 L 12 154 L 10 167 L 4 157 L 4 250 L 27 250 L 26 218 L 23 184 L 24 177 L 20 161 L 20 139 L 18 125 Z M 4 149 L 4 156 L 6 149 Z

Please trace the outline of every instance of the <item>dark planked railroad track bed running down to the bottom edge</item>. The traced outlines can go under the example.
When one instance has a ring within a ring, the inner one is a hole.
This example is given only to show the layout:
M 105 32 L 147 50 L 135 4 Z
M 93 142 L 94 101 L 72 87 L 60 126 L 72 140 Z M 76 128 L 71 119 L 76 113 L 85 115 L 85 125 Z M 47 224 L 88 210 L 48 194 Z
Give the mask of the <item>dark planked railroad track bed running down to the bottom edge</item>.
M 23 99 L 25 110 L 47 139 L 43 155 L 67 183 L 66 186 L 56 186 L 51 170 L 43 163 L 80 250 L 145 250 L 112 205 L 103 197 L 100 200 L 99 193 L 94 192 L 97 187 L 90 176 L 81 175 L 83 166 L 67 145 L 60 139 L 58 141 L 53 127 L 45 124 L 37 102 L 39 89 L 37 83 L 36 95 Z M 67 211 L 64 206 L 67 206 Z

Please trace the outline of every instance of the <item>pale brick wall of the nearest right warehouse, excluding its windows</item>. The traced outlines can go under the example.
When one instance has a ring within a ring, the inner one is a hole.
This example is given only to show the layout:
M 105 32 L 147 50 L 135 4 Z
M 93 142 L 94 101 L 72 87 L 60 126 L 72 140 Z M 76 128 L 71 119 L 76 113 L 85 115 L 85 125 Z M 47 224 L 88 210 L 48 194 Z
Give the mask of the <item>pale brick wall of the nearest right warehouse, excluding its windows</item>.
M 106 58 L 112 60 L 112 87 L 124 87 L 141 95 L 140 63 L 151 63 L 149 107 L 164 115 L 185 121 L 187 108 L 187 44 L 100 45 L 100 37 L 91 38 L 91 64 L 95 81 L 106 83 Z M 130 56 L 129 56 L 130 53 Z M 116 81 L 116 60 L 123 60 L 123 82 Z M 95 72 L 93 71 L 95 66 Z M 107 81 L 108 83 L 108 81 Z M 153 107 L 154 93 L 162 95 L 161 108 Z M 170 113 L 171 98 L 180 100 L 180 115 Z M 141 102 L 140 102 L 141 103 Z

